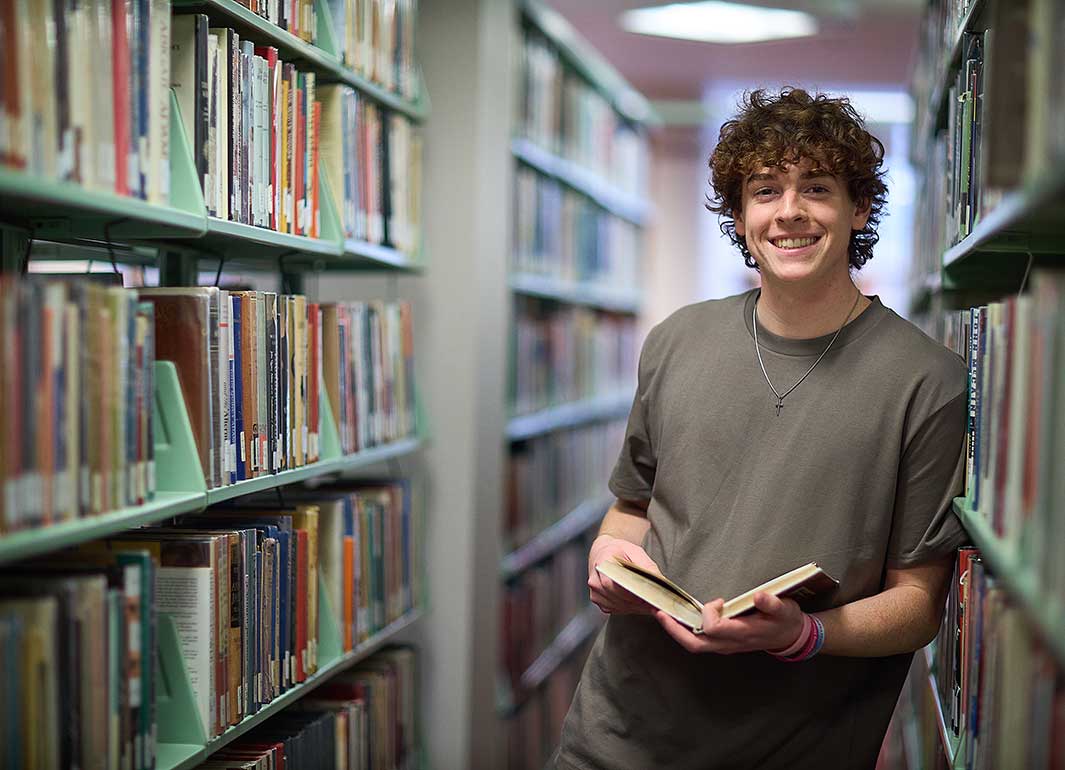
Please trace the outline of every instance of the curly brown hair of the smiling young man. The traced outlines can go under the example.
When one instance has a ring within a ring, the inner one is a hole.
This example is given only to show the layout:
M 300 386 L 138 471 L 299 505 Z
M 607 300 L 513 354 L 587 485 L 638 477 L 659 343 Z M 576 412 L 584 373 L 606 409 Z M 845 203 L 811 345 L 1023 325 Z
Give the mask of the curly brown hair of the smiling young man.
M 785 87 L 779 94 L 747 92 L 739 113 L 721 127 L 710 154 L 710 187 L 706 208 L 721 217 L 721 232 L 739 248 L 748 267 L 758 268 L 736 234 L 736 214 L 742 210 L 743 183 L 755 167 L 783 170 L 809 159 L 847 184 L 851 200 L 869 204 L 869 220 L 851 232 L 848 256 L 853 269 L 872 258 L 880 236 L 876 226 L 887 202 L 884 183 L 884 145 L 865 130 L 862 116 L 847 98 L 810 95 Z

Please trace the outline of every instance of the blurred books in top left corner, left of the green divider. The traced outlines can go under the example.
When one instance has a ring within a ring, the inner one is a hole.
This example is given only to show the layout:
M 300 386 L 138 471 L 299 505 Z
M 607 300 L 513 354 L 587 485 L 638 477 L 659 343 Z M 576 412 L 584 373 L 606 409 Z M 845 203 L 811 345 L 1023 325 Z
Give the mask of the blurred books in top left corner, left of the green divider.
M 0 5 L 0 164 L 169 201 L 168 0 Z

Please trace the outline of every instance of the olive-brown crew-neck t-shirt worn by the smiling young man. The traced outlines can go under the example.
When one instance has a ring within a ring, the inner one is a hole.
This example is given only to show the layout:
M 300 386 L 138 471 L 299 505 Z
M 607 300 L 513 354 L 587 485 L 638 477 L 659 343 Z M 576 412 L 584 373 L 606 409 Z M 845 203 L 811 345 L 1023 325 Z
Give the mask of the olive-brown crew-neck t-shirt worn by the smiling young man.
M 879 593 L 885 568 L 951 553 L 965 541 L 951 513 L 963 360 L 870 297 L 777 415 L 755 356 L 756 294 L 686 307 L 644 343 L 610 490 L 651 501 L 651 558 L 703 601 L 817 561 L 840 580 L 808 607 L 819 610 Z M 759 324 L 776 389 L 831 339 Z M 653 618 L 615 616 L 585 667 L 557 767 L 871 769 L 912 657 L 693 655 Z

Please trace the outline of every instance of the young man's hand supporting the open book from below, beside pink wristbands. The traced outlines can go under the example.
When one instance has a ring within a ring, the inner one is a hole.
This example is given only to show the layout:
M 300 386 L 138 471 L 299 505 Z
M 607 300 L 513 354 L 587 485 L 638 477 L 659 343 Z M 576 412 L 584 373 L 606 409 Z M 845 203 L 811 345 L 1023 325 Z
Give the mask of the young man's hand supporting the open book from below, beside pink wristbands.
M 759 591 L 754 594 L 754 612 L 723 620 L 724 600 L 703 605 L 703 634 L 697 636 L 662 611 L 655 618 L 662 628 L 689 653 L 733 655 L 760 650 L 786 650 L 802 633 L 802 610 L 791 599 Z

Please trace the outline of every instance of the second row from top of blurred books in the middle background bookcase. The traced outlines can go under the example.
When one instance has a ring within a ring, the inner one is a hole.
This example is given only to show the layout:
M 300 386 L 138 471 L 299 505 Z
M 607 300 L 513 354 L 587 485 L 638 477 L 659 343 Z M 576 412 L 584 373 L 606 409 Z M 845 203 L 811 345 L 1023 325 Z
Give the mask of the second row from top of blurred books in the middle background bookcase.
M 514 269 L 634 289 L 639 229 L 591 199 L 520 166 L 514 187 Z

